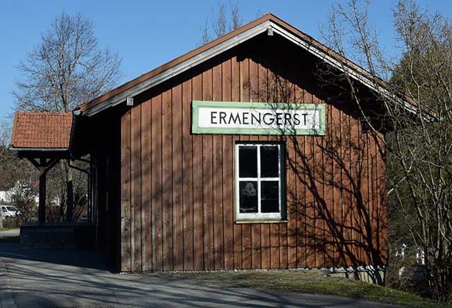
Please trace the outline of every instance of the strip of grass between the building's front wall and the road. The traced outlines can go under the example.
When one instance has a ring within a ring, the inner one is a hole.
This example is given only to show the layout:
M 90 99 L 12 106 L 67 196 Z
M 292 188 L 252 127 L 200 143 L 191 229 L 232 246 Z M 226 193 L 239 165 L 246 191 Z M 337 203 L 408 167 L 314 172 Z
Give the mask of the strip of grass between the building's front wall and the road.
M 164 274 L 168 275 L 168 274 Z M 225 271 L 172 273 L 178 279 L 196 280 L 223 288 L 255 288 L 297 293 L 330 294 L 402 307 L 452 308 L 452 304 L 344 277 L 324 277 L 321 271 Z

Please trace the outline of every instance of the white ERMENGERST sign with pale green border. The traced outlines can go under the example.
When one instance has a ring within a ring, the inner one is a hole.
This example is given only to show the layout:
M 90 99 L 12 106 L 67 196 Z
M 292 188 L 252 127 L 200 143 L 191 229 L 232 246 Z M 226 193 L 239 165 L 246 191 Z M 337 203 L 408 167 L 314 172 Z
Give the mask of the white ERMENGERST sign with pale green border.
M 325 135 L 325 105 L 193 101 L 193 134 Z

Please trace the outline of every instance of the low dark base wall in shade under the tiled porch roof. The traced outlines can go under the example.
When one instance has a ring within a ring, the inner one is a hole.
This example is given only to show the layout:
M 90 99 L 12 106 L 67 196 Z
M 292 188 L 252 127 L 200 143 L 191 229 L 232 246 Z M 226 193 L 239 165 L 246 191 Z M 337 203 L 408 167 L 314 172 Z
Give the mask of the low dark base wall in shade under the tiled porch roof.
M 23 223 L 22 248 L 95 249 L 94 223 Z

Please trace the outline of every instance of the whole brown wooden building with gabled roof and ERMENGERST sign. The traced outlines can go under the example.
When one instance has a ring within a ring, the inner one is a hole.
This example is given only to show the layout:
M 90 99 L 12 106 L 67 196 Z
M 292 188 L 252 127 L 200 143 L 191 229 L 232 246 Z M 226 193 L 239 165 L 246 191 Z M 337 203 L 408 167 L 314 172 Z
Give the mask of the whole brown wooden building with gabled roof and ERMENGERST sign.
M 384 268 L 372 84 L 267 14 L 79 106 L 70 153 L 95 166 L 102 248 L 122 272 Z

